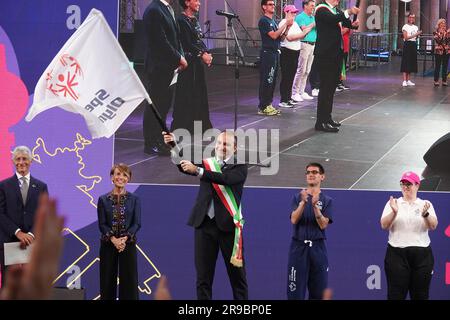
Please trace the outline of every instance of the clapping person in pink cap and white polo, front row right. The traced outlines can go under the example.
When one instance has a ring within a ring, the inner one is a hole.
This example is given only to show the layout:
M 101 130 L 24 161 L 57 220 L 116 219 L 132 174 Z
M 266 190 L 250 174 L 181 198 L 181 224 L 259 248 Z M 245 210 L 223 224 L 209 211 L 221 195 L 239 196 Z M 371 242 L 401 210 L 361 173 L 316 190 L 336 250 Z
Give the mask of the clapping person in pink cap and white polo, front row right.
M 420 178 L 405 172 L 400 179 L 402 197 L 390 197 L 381 216 L 381 228 L 389 230 L 384 269 L 389 300 L 427 300 L 434 257 L 428 230 L 437 227 L 433 205 L 417 197 Z

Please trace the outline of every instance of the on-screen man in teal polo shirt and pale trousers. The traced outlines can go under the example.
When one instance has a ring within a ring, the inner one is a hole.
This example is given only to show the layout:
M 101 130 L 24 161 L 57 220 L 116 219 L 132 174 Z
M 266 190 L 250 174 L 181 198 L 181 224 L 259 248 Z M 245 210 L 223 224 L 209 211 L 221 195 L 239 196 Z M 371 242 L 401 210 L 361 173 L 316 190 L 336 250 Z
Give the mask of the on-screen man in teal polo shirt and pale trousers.
M 305 88 L 309 72 L 311 71 L 311 65 L 314 60 L 314 45 L 317 39 L 316 22 L 313 15 L 314 8 L 314 0 L 303 1 L 303 12 L 297 15 L 297 17 L 295 18 L 295 22 L 297 22 L 302 30 L 307 27 L 312 27 L 312 30 L 302 40 L 300 57 L 298 59 L 297 73 L 292 85 L 291 98 L 292 100 L 297 102 L 313 99 L 313 97 L 305 92 Z

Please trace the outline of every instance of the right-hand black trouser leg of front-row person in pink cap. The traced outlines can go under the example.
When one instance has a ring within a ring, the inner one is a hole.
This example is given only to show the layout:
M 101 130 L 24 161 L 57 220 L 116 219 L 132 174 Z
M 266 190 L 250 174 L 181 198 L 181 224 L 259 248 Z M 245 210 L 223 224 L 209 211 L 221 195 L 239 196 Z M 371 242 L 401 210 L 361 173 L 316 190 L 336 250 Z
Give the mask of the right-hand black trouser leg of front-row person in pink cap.
M 410 248 L 411 281 L 409 295 L 411 300 L 428 300 L 434 267 L 431 247 Z

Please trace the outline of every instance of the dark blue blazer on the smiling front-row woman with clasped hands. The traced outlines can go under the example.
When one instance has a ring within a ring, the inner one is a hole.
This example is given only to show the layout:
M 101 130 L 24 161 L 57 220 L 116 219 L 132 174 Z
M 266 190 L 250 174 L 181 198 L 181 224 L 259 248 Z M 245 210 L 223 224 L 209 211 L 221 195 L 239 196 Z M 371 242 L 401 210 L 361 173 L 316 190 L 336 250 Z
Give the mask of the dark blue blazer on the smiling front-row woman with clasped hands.
M 102 239 L 110 238 L 113 235 L 113 201 L 110 199 L 108 192 L 100 198 L 97 203 L 98 227 L 102 234 Z M 141 201 L 139 198 L 127 192 L 125 200 L 125 229 L 131 238 L 134 238 L 138 230 L 141 228 Z

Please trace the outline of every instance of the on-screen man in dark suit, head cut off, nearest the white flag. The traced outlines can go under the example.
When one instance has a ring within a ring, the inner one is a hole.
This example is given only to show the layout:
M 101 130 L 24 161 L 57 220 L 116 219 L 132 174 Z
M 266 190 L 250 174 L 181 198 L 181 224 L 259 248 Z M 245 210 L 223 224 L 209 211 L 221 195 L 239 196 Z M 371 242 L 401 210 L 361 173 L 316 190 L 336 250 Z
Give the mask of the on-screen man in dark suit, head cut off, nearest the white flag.
M 164 122 L 171 104 L 169 85 L 174 70 L 178 68 L 181 71 L 187 67 L 171 2 L 172 0 L 154 0 L 143 16 L 147 40 L 146 85 L 153 105 Z M 143 131 L 145 153 L 168 154 L 161 138 L 160 125 L 148 104 L 144 110 Z

